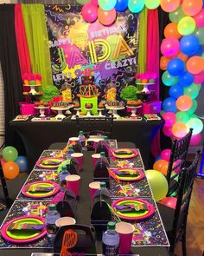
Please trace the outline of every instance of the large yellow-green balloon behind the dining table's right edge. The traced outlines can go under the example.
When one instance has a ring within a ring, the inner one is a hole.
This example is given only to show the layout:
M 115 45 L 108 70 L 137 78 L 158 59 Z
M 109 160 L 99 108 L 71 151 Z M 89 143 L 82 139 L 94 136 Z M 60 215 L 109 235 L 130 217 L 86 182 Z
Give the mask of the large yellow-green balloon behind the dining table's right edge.
M 147 170 L 145 174 L 155 200 L 163 200 L 168 193 L 168 183 L 165 176 L 156 170 Z

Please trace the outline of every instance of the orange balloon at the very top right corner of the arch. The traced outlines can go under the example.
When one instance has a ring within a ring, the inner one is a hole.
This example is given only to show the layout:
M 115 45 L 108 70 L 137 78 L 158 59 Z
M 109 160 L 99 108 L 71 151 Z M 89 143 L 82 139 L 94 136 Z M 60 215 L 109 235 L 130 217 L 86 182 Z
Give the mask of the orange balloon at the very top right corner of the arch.
M 182 11 L 187 16 L 195 16 L 202 9 L 202 0 L 183 0 Z

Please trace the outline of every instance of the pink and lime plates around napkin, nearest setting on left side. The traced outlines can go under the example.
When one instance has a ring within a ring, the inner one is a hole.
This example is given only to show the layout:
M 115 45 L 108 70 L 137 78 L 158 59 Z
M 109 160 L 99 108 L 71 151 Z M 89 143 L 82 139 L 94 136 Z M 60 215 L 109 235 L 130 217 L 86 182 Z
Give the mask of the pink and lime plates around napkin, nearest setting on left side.
M 19 221 L 22 222 L 23 219 L 25 220 L 25 223 L 26 223 L 26 220 L 29 220 L 29 219 L 36 220 L 36 223 L 45 223 L 45 219 L 41 218 L 39 216 L 22 216 L 22 217 L 18 217 L 16 219 L 10 220 L 2 226 L 1 234 L 2 234 L 4 240 L 7 240 L 12 243 L 16 243 L 16 244 L 22 244 L 22 243 L 34 242 L 35 240 L 40 240 L 43 236 L 46 235 L 47 230 L 46 230 L 46 226 L 44 226 L 41 233 L 36 234 L 35 237 L 32 237 L 32 238 L 26 238 L 26 235 L 24 235 L 24 238 L 22 238 L 22 239 L 10 237 L 10 233 L 7 230 L 8 226 L 10 226 L 10 224 L 13 222 L 19 222 Z

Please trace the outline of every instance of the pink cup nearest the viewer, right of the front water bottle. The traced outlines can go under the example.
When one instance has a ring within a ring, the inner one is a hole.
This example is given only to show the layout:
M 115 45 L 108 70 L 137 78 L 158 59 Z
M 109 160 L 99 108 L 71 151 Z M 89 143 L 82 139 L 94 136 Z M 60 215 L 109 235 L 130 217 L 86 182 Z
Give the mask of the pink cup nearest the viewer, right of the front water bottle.
M 131 253 L 131 240 L 135 231 L 135 227 L 131 225 L 131 223 L 118 222 L 116 224 L 116 231 L 119 234 L 119 253 Z

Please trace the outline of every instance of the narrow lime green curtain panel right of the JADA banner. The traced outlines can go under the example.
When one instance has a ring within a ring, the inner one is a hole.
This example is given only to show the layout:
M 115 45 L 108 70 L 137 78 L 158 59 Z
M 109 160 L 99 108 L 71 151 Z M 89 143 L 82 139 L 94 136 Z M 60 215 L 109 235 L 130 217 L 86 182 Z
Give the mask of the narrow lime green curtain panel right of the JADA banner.
M 139 14 L 139 49 L 138 49 L 138 69 L 137 73 L 146 71 L 146 53 L 147 53 L 147 8 L 144 8 Z

